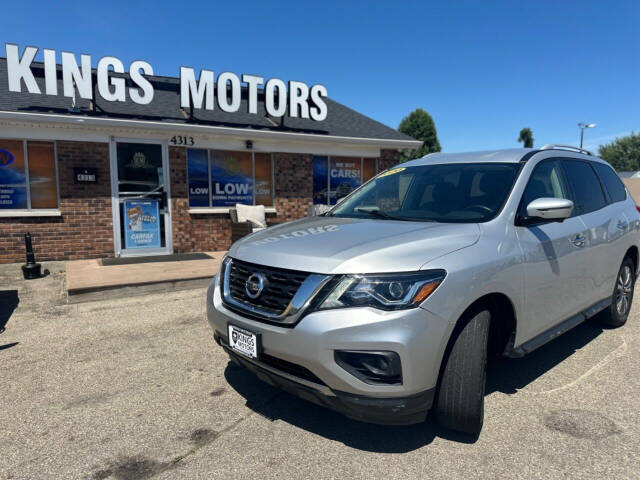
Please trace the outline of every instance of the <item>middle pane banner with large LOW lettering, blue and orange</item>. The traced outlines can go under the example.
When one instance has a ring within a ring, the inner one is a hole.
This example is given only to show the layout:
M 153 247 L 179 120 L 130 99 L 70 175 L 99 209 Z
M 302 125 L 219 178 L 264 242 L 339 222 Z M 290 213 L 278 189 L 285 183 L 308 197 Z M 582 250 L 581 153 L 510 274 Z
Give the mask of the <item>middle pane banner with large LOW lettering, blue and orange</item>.
M 214 207 L 253 204 L 251 153 L 212 150 L 211 188 Z

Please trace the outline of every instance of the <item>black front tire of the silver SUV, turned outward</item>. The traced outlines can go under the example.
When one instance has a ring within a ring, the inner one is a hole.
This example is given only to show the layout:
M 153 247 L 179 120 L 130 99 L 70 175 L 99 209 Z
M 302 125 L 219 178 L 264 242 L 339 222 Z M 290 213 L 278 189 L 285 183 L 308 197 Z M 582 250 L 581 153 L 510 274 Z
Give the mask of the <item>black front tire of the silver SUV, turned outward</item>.
M 440 426 L 470 435 L 482 430 L 491 314 L 474 309 L 462 319 L 442 370 L 434 420 Z

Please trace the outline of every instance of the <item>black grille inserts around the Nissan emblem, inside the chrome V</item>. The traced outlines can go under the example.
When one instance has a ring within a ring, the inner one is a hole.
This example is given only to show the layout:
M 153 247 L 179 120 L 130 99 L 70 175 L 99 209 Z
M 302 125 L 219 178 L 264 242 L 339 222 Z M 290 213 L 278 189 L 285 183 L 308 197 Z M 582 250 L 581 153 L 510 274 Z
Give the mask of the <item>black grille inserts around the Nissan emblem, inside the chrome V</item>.
M 229 292 L 234 300 L 251 305 L 265 313 L 280 315 L 287 308 L 308 273 L 282 268 L 265 267 L 233 260 L 229 272 Z M 262 273 L 266 279 L 263 292 L 256 299 L 247 295 L 247 279 L 254 273 Z

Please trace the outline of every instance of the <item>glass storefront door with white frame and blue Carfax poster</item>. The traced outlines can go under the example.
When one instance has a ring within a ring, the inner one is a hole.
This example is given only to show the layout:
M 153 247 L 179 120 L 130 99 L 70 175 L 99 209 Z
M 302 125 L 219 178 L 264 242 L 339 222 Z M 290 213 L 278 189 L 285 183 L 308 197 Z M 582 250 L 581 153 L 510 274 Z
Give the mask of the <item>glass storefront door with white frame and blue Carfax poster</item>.
M 112 139 L 110 151 L 116 256 L 171 253 L 167 145 Z

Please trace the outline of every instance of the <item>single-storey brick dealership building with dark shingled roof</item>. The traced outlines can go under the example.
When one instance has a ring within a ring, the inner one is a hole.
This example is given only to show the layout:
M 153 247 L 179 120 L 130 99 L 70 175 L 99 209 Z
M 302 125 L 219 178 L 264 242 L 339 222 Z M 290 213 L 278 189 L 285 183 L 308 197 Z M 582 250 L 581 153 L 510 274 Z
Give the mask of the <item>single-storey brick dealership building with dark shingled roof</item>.
M 0 59 L 0 263 L 23 261 L 25 232 L 38 260 L 224 250 L 236 203 L 304 217 L 420 145 L 329 98 L 322 121 L 271 117 L 264 90 L 249 114 L 244 87 L 235 113 L 185 109 L 177 78 L 147 79 L 148 105 L 15 92 Z

